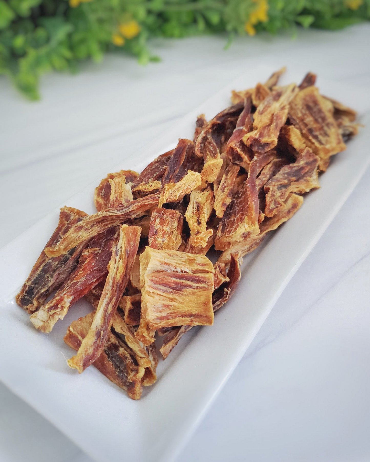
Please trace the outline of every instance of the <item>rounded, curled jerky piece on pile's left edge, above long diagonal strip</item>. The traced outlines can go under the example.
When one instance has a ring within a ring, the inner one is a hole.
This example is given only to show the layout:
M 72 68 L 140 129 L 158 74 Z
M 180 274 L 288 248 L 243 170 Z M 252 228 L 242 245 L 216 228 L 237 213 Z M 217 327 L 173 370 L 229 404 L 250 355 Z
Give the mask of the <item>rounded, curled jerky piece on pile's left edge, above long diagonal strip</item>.
M 133 182 L 138 175 L 139 174 L 133 170 L 120 170 L 116 173 L 108 173 L 108 175 L 101 180 L 99 186 L 95 188 L 94 204 L 98 212 L 106 208 L 115 207 L 111 205 L 111 200 L 113 199 L 113 201 L 115 201 L 114 198 L 117 197 L 115 202 L 118 202 L 119 192 L 117 188 L 121 189 L 121 196 L 123 196 L 122 204 L 128 202 L 126 200 L 127 197 L 131 197 L 130 200 L 132 201 L 131 188 L 129 188 L 129 186 L 125 187 L 124 185 Z M 113 195 L 112 184 L 113 188 L 115 188 Z

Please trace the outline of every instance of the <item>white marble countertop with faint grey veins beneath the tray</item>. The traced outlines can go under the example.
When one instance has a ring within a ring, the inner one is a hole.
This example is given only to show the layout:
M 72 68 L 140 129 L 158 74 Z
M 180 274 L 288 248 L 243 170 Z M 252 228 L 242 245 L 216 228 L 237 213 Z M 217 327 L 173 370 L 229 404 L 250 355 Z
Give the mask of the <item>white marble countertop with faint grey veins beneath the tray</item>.
M 109 56 L 51 74 L 40 103 L 1 78 L 0 246 L 256 64 L 368 93 L 369 42 L 370 24 L 238 39 L 228 51 L 221 37 L 156 41 L 161 63 Z M 370 460 L 369 197 L 367 171 L 177 462 Z M 91 459 L 0 384 L 0 461 Z

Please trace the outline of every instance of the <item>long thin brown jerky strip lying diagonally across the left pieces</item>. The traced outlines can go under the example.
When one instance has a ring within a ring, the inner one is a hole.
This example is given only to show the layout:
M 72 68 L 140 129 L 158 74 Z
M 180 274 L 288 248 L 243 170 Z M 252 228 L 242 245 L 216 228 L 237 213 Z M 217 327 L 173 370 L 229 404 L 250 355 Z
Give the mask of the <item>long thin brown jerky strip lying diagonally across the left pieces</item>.
M 50 246 L 45 248 L 45 253 L 50 256 L 62 255 L 70 248 L 88 241 L 91 237 L 109 228 L 118 226 L 129 219 L 145 215 L 149 210 L 157 207 L 159 199 L 160 193 L 158 192 L 136 199 L 136 201 L 129 202 L 127 205 L 102 210 L 93 215 L 88 215 L 82 219 L 80 223 L 72 226 L 59 243 L 53 247 Z M 169 200 L 170 199 L 171 195 L 169 195 Z

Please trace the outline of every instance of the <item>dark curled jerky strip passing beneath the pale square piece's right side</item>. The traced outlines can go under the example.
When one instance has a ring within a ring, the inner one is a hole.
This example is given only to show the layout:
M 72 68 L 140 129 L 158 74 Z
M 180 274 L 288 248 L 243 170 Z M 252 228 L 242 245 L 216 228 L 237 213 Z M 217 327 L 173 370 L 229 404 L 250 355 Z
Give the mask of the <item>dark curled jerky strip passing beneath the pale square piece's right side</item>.
M 221 308 L 223 304 L 234 293 L 238 282 L 240 281 L 240 255 L 232 254 L 231 261 L 228 269 L 227 279 L 225 282 L 213 292 L 212 303 L 213 311 Z M 216 263 L 219 267 L 224 267 L 222 263 Z M 179 343 L 180 338 L 188 332 L 193 326 L 179 326 L 173 328 L 166 334 L 166 337 L 163 340 L 162 346 L 160 347 L 160 353 L 162 354 L 163 359 L 166 359 L 167 356 L 172 352 L 173 348 Z

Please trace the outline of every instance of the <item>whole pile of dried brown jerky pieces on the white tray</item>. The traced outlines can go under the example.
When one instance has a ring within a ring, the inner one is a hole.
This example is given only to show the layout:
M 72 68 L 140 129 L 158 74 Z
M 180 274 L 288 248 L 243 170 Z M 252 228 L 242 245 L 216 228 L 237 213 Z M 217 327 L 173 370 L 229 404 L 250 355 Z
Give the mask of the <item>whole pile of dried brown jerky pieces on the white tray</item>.
M 139 399 L 156 380 L 158 339 L 165 359 L 193 326 L 211 326 L 242 256 L 320 187 L 332 156 L 358 133 L 356 112 L 321 95 L 312 73 L 279 86 L 283 72 L 233 91 L 230 107 L 209 121 L 200 115 L 193 140 L 140 174 L 109 174 L 95 189 L 97 213 L 62 208 L 16 299 L 50 332 L 86 297 L 91 312 L 64 337 L 76 351 L 70 367 L 94 365 Z

